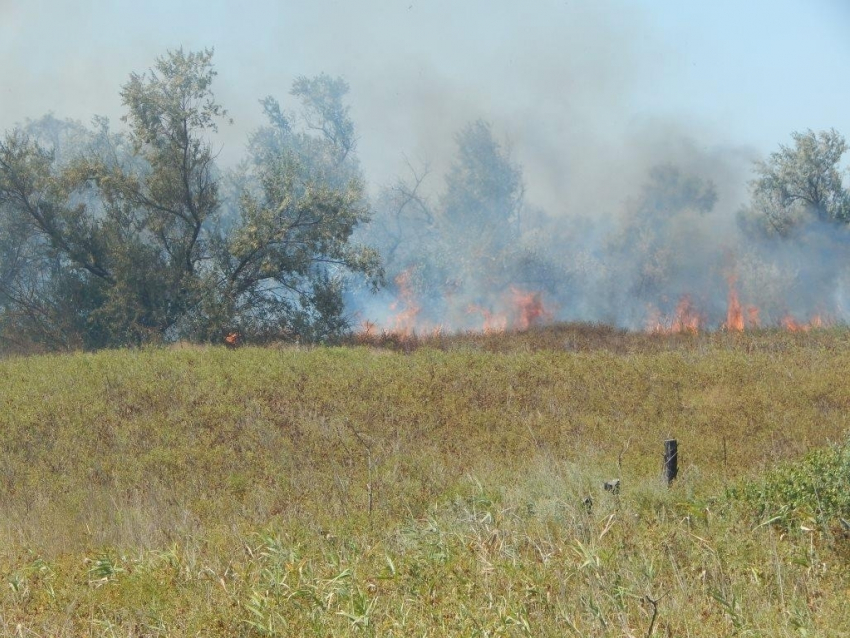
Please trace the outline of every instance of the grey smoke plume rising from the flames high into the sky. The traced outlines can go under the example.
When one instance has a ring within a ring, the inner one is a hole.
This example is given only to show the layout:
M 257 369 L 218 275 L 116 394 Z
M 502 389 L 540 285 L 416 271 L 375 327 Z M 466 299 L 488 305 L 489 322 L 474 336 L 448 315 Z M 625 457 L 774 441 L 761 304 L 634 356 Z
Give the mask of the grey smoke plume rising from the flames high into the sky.
M 356 317 L 402 332 L 520 327 L 527 306 L 517 299 L 536 294 L 546 308 L 539 321 L 638 330 L 681 328 L 682 308 L 693 325 L 722 328 L 733 299 L 745 326 L 847 320 L 848 278 L 836 265 L 846 261 L 843 231 L 813 225 L 788 241 L 744 232 L 741 210 L 763 151 L 687 113 L 643 106 L 653 103 L 653 83 L 681 73 L 677 52 L 647 36 L 643 18 L 584 7 L 564 22 L 515 20 L 501 26 L 529 28 L 533 41 L 487 51 L 486 67 L 463 56 L 440 64 L 440 51 L 432 64 L 387 63 L 381 81 L 391 93 L 370 91 L 363 115 L 381 114 L 374 139 L 397 141 L 415 175 L 402 162 L 385 171 L 407 183 L 382 182 L 362 239 L 383 249 L 390 286 L 384 297 L 356 296 Z M 492 218 L 510 229 L 509 249 L 459 224 L 471 215 L 445 203 L 462 154 L 457 134 L 478 119 L 522 172 L 520 222 Z M 367 139 L 364 157 L 374 152 Z M 392 149 L 381 154 L 390 164 Z M 427 213 L 410 203 L 400 210 L 414 187 Z

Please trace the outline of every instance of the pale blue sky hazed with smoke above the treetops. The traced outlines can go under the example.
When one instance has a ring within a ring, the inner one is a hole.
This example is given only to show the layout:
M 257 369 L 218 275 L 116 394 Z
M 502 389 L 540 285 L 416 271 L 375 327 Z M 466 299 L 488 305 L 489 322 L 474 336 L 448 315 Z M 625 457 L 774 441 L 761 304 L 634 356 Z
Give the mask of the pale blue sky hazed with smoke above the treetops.
M 440 166 L 478 117 L 541 193 L 622 140 L 767 153 L 795 130 L 850 136 L 847 0 L 0 0 L 0 130 L 51 111 L 119 124 L 128 74 L 178 46 L 215 48 L 225 160 L 259 98 L 344 76 L 376 184 L 404 154 Z

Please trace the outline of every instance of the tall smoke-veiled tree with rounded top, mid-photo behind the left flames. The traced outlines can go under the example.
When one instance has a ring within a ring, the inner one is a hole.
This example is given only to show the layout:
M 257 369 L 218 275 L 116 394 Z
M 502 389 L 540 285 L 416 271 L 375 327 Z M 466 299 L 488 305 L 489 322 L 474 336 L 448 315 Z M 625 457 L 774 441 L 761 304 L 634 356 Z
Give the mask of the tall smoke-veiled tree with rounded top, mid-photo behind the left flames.
M 540 238 L 521 228 L 522 169 L 490 124 L 467 124 L 455 142 L 441 192 L 427 165 L 408 161 L 408 176 L 383 189 L 368 228 L 396 296 L 421 302 L 422 325 L 472 327 L 481 311 L 510 305 L 511 288 L 540 290 L 560 277 Z

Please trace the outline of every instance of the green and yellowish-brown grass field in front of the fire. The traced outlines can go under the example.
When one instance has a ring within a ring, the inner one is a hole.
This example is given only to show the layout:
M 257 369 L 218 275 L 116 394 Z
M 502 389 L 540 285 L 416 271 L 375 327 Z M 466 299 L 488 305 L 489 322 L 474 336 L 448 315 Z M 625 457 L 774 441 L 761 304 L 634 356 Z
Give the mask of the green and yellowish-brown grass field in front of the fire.
M 848 370 L 847 329 L 6 359 L 0 634 L 850 636 Z

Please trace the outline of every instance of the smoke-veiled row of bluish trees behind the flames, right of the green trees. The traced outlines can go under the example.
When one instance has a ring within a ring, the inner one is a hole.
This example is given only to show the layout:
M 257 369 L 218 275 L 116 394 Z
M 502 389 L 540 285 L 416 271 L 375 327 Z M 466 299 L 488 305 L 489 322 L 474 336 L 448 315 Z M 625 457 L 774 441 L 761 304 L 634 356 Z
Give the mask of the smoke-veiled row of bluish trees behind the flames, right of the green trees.
M 683 298 L 701 325 L 719 328 L 731 285 L 761 309 L 762 325 L 823 310 L 839 318 L 836 293 L 850 283 L 850 192 L 836 131 L 795 133 L 757 162 L 737 209 L 718 210 L 721 188 L 710 176 L 661 163 L 618 208 L 566 215 L 525 201 L 521 166 L 486 123 L 456 142 L 443 190 L 428 195 L 432 177 L 411 167 L 376 202 L 369 229 L 389 285 L 404 273 L 413 287 L 420 325 L 480 328 L 487 311 L 510 313 L 517 288 L 539 292 L 561 320 L 631 329 L 644 329 L 653 312 L 671 315 Z M 615 175 L 608 187 L 619 187 Z

